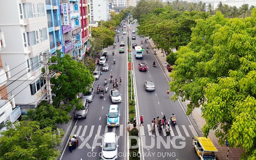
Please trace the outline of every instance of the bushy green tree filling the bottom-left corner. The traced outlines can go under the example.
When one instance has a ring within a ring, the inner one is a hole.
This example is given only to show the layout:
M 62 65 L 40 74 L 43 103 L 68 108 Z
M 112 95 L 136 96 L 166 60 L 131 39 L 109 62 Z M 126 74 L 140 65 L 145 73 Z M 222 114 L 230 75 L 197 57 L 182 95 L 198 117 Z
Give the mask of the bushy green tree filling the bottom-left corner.
M 15 122 L 13 126 L 7 122 L 6 127 L 0 137 L 0 160 L 54 160 L 60 156 L 54 147 L 60 145 L 61 135 L 51 127 L 40 129 L 36 121 Z

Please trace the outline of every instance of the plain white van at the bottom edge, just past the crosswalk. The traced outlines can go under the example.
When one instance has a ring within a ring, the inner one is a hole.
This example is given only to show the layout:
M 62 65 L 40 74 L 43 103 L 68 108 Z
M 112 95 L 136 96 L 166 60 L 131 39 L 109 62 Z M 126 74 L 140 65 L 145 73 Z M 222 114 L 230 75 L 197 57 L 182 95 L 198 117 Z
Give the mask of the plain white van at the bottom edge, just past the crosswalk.
M 101 159 L 117 160 L 117 136 L 114 132 L 107 132 L 102 140 Z

